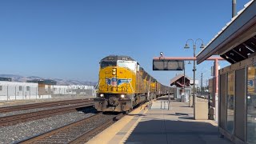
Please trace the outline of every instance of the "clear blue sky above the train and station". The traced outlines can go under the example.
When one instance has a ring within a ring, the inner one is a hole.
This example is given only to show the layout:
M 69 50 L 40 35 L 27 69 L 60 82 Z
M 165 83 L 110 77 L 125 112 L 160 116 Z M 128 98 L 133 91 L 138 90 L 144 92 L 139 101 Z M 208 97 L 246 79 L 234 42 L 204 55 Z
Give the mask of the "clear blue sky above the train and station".
M 0 74 L 97 82 L 100 59 L 122 54 L 167 85 L 177 72 L 153 71 L 152 58 L 160 51 L 192 56 L 192 49 L 183 49 L 186 40 L 202 38 L 207 44 L 230 21 L 231 2 L 2 0 Z M 238 0 L 238 10 L 246 2 Z M 212 64 L 198 65 L 197 78 L 202 72 L 210 77 Z M 192 78 L 192 65 L 186 74 Z

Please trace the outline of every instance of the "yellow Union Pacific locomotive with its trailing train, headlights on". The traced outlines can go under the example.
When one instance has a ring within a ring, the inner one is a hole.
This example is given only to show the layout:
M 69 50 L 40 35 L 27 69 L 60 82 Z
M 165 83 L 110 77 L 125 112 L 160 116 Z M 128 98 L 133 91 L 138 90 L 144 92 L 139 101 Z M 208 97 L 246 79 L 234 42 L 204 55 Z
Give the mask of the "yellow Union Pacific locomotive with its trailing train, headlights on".
M 162 95 L 174 93 L 163 86 L 129 56 L 110 55 L 100 62 L 97 98 L 98 111 L 125 112 Z

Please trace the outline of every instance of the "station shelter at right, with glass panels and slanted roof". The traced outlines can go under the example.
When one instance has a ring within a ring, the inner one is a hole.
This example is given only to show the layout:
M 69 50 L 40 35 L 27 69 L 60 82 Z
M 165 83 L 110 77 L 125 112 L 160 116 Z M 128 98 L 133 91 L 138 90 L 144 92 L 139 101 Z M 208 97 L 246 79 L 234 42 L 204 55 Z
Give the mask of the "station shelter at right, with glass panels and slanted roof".
M 250 1 L 197 56 L 230 62 L 218 71 L 215 95 L 220 133 L 234 143 L 256 143 L 256 1 Z

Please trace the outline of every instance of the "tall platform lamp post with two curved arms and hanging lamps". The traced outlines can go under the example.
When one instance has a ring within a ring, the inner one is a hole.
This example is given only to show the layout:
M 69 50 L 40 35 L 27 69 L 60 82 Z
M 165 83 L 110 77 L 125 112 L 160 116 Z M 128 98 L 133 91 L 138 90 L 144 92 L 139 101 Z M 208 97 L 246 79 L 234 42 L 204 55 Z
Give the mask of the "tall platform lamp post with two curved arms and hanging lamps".
M 188 40 L 186 41 L 186 45 L 184 46 L 184 49 L 189 49 L 190 46 L 188 45 L 187 42 L 189 42 L 189 41 L 192 41 L 192 42 L 193 42 L 194 58 L 195 58 L 195 50 L 197 49 L 196 46 L 197 46 L 198 40 L 200 40 L 200 41 L 202 42 L 202 45 L 200 46 L 200 48 L 202 48 L 202 49 L 205 48 L 205 46 L 204 46 L 203 41 L 202 41 L 201 38 L 198 38 L 198 39 L 196 39 L 195 41 L 190 38 L 190 39 L 188 39 Z M 195 86 L 194 86 L 194 84 L 195 84 L 195 71 L 196 71 L 196 67 L 195 67 L 195 59 L 194 59 L 194 67 L 193 67 L 193 73 L 194 73 L 194 76 L 193 76 L 193 106 L 195 106 Z

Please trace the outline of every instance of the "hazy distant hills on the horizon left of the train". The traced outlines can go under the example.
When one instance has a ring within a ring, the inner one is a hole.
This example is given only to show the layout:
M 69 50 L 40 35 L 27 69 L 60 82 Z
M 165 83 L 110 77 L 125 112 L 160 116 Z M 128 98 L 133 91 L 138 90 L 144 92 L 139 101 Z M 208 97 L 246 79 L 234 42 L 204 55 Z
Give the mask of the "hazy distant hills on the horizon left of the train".
M 60 78 L 42 78 L 38 76 L 23 77 L 21 75 L 14 74 L 0 74 L 0 77 L 3 78 L 12 78 L 12 82 L 26 82 L 32 79 L 52 79 L 57 82 L 57 85 L 93 85 L 96 86 L 97 82 L 87 82 L 87 81 L 78 81 L 78 80 L 66 80 Z

